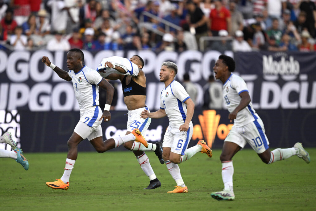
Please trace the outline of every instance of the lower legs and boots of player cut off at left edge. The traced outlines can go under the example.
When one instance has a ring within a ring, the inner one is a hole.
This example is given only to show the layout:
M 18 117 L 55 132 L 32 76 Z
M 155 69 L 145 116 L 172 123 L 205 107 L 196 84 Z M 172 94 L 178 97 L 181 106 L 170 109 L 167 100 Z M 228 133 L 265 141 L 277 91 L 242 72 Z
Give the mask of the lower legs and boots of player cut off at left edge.
M 13 149 L 13 151 L 0 149 L 0 158 L 12 158 L 21 164 L 25 170 L 28 170 L 28 160 L 23 156 L 22 150 L 17 148 L 10 132 L 5 132 L 2 136 L 0 136 L 0 143 L 9 144 Z

